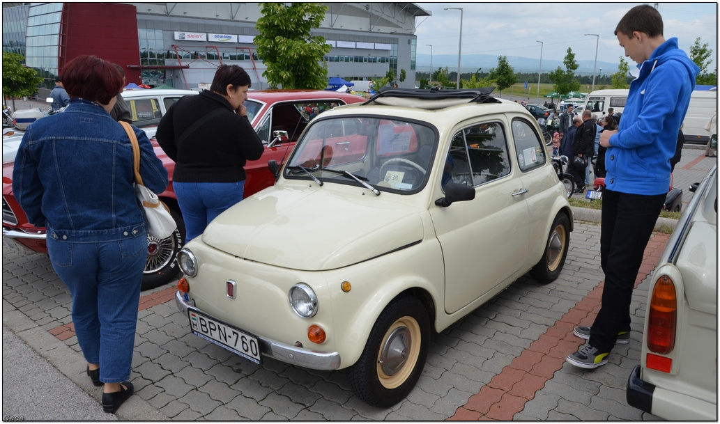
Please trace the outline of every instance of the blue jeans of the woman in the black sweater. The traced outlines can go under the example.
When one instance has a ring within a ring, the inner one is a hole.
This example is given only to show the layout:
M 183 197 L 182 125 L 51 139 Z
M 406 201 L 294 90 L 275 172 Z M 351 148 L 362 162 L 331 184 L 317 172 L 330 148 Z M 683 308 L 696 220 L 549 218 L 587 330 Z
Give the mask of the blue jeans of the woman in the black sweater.
M 173 183 L 185 221 L 186 242 L 205 231 L 220 213 L 243 200 L 245 180 L 237 183 Z

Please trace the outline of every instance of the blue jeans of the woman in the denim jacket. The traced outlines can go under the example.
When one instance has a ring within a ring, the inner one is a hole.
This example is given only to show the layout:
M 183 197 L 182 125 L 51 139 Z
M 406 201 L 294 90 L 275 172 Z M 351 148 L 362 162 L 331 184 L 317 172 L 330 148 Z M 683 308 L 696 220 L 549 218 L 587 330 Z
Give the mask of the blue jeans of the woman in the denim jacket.
M 77 243 L 48 237 L 53 269 L 73 298 L 73 324 L 85 360 L 100 365 L 100 381 L 130 379 L 140 285 L 148 238 Z

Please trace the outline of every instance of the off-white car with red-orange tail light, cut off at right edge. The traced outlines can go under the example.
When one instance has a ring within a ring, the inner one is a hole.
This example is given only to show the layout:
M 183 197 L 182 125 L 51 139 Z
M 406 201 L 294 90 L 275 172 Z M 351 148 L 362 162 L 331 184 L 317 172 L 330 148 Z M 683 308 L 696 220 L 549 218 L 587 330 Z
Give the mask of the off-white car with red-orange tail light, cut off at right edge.
M 648 289 L 642 356 L 627 401 L 666 420 L 718 417 L 717 194 L 714 166 L 678 220 Z

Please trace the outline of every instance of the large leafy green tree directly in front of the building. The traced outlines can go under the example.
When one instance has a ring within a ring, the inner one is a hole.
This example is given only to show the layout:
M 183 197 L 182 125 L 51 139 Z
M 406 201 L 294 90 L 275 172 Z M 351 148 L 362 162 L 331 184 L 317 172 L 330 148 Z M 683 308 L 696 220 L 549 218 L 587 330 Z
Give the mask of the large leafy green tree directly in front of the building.
M 267 69 L 263 76 L 273 88 L 328 86 L 325 54 L 330 45 L 310 31 L 320 27 L 327 6 L 320 3 L 263 3 L 253 42 Z

